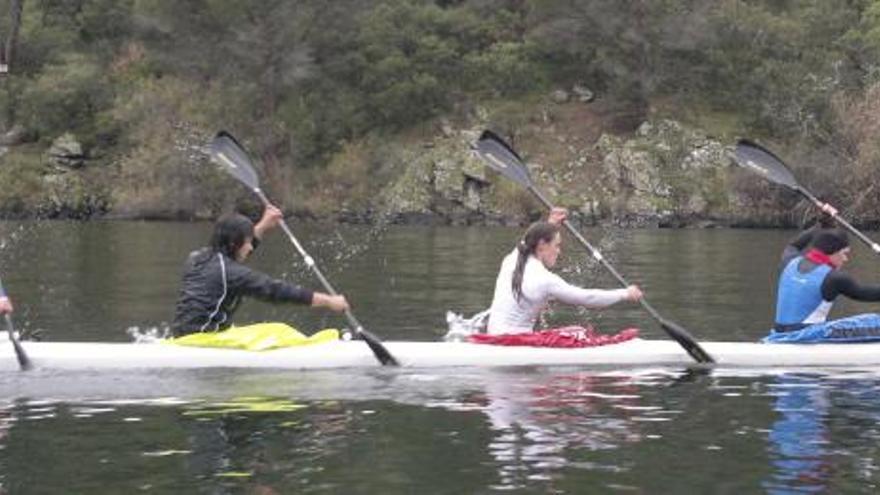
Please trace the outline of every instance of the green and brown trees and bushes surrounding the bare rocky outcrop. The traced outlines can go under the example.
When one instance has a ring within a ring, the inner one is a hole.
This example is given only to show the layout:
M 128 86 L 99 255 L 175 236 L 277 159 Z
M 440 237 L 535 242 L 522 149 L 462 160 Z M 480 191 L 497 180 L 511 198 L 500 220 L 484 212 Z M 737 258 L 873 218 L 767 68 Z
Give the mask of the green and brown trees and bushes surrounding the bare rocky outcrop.
M 288 208 L 369 207 L 405 155 L 387 143 L 417 147 L 441 118 L 516 134 L 554 89 L 583 85 L 604 129 L 659 115 L 821 156 L 799 161 L 815 165 L 817 192 L 880 215 L 880 191 L 864 188 L 880 174 L 880 0 L 0 0 L 0 12 L 0 124 L 30 143 L 0 158 L 8 214 L 51 199 L 45 150 L 71 132 L 90 208 L 210 216 L 235 199 L 195 152 L 220 128 L 263 159 Z M 678 182 L 676 195 L 703 187 Z

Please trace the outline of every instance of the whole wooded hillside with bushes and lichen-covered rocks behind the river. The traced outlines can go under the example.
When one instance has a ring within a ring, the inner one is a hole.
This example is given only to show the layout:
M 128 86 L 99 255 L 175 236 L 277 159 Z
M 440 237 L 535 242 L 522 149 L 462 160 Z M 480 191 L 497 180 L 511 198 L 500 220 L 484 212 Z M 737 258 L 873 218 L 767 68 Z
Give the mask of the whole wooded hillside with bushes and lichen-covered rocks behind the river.
M 512 139 L 590 221 L 779 225 L 808 209 L 731 170 L 786 157 L 880 218 L 880 1 L 4 0 L 0 213 L 254 209 L 203 153 L 228 129 L 288 212 L 521 223 L 468 145 Z M 868 184 L 866 187 L 865 185 Z

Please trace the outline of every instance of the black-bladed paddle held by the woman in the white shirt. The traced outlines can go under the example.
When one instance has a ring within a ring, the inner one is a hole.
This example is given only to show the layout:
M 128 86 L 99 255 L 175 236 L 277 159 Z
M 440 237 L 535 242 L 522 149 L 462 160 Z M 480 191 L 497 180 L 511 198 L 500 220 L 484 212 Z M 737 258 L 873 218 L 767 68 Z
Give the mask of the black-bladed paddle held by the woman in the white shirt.
M 474 145 L 474 149 L 477 154 L 491 167 L 493 170 L 501 173 L 508 179 L 518 183 L 519 185 L 525 187 L 529 190 L 538 200 L 544 204 L 549 209 L 553 208 L 553 204 L 541 194 L 535 184 L 532 182 L 532 178 L 529 176 L 529 172 L 526 169 L 525 164 L 523 163 L 522 158 L 513 150 L 503 139 L 501 139 L 497 134 L 492 131 L 483 131 L 483 134 L 480 136 L 480 139 Z M 593 258 L 599 261 L 602 266 L 608 270 L 614 278 L 617 279 L 624 287 L 629 286 L 629 282 L 627 282 L 617 270 L 609 263 L 596 248 L 590 245 L 586 239 L 578 232 L 568 220 L 565 220 L 562 223 L 568 232 L 574 236 L 578 242 L 581 243 L 587 251 L 589 251 Z M 660 327 L 672 337 L 676 342 L 681 345 L 684 350 L 687 351 L 688 354 L 691 355 L 694 360 L 698 363 L 714 363 L 715 360 L 703 350 L 702 347 L 697 343 L 696 340 L 688 333 L 687 330 L 682 328 L 680 325 L 673 323 L 662 316 L 650 305 L 648 301 L 644 298 L 639 300 L 639 303 L 642 307 L 651 315 L 652 318 L 657 320 L 660 324 Z

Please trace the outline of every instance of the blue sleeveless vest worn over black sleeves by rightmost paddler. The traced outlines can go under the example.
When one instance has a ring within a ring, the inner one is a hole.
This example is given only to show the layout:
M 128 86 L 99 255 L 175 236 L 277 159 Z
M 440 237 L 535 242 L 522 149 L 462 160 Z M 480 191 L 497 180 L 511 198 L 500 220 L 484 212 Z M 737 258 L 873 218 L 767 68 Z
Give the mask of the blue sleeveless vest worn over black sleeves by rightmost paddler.
M 803 256 L 798 256 L 791 260 L 779 277 L 777 326 L 821 323 L 831 311 L 832 302 L 822 299 L 822 282 L 831 273 L 831 267 L 819 265 L 807 273 L 801 273 L 798 265 L 803 259 Z

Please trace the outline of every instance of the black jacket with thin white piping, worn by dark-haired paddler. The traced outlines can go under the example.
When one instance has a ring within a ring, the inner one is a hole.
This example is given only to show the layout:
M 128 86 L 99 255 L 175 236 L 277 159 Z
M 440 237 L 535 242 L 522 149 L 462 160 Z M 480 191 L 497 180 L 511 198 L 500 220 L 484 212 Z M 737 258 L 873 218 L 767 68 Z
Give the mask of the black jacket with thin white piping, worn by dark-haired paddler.
M 174 311 L 175 337 L 224 330 L 242 296 L 263 301 L 312 303 L 312 291 L 252 270 L 225 254 L 203 248 L 186 260 L 183 284 Z

